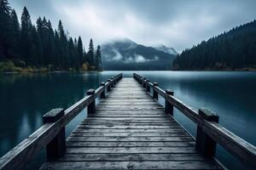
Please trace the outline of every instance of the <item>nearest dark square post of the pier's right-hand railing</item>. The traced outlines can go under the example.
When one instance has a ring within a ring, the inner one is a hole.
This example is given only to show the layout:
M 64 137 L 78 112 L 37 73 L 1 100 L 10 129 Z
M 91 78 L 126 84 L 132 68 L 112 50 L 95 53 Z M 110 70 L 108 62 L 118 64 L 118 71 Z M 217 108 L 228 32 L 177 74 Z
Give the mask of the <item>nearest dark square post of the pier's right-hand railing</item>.
M 204 120 L 218 123 L 218 115 L 213 111 L 204 108 L 200 109 L 198 113 Z M 213 157 L 215 155 L 216 142 L 204 133 L 199 126 L 197 126 L 196 131 L 195 149 L 206 157 Z

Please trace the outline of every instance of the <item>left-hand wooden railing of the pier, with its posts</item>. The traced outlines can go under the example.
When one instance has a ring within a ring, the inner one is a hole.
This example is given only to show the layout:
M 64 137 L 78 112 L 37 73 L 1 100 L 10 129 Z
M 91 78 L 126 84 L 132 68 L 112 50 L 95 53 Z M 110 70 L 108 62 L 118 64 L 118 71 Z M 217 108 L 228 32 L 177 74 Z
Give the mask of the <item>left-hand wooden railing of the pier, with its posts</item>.
M 88 107 L 88 114 L 92 113 L 91 109 L 95 107 L 95 99 L 100 95 L 105 97 L 106 88 L 111 87 L 123 77 L 123 74 L 112 77 L 108 82 L 102 82 L 100 88 L 90 89 L 87 95 L 80 99 L 67 110 L 54 109 L 44 115 L 44 125 L 32 133 L 14 149 L 0 158 L 0 169 L 21 169 L 30 161 L 33 156 L 47 146 L 47 158 L 49 161 L 56 159 L 65 152 L 65 127 L 75 116 L 85 107 Z M 63 133 L 64 132 L 64 133 Z

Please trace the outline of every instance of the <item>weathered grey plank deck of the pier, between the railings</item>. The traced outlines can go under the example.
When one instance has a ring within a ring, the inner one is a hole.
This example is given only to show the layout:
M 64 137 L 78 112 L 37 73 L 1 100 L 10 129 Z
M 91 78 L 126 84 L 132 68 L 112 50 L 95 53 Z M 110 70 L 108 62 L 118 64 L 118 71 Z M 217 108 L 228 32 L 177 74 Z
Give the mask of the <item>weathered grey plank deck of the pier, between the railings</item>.
M 123 78 L 44 169 L 222 169 L 133 78 Z

